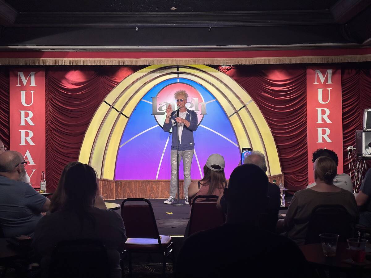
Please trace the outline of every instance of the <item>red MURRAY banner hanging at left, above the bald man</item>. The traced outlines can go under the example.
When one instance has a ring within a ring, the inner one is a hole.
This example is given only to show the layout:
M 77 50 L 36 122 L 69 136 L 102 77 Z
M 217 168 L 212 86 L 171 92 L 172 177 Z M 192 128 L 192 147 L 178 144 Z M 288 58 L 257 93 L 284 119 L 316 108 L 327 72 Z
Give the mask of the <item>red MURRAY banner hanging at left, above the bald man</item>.
M 22 153 L 34 188 L 45 171 L 45 71 L 9 72 L 10 149 Z

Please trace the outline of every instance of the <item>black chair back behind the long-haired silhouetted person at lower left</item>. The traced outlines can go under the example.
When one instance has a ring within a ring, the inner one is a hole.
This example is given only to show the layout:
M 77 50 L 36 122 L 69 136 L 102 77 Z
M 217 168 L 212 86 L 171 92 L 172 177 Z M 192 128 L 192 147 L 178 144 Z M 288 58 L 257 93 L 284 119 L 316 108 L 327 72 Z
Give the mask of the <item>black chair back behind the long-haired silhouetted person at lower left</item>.
M 105 246 L 95 239 L 59 242 L 52 253 L 50 278 L 110 277 Z

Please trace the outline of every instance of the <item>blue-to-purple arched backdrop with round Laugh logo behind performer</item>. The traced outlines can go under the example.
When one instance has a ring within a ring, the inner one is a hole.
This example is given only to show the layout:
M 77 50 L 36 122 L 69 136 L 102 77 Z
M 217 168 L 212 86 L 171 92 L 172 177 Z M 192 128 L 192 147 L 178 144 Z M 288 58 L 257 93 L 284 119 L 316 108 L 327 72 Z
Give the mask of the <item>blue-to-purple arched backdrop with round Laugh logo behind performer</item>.
M 135 107 L 122 134 L 115 180 L 170 179 L 171 133 L 164 132 L 162 125 L 168 103 L 175 109 L 174 92 L 177 90 L 186 90 L 189 95 L 186 107 L 198 114 L 192 179 L 203 177 L 203 166 L 212 153 L 224 157 L 227 179 L 240 163 L 240 150 L 232 125 L 215 97 L 192 80 L 174 78 L 154 86 Z M 183 178 L 182 162 L 179 177 Z

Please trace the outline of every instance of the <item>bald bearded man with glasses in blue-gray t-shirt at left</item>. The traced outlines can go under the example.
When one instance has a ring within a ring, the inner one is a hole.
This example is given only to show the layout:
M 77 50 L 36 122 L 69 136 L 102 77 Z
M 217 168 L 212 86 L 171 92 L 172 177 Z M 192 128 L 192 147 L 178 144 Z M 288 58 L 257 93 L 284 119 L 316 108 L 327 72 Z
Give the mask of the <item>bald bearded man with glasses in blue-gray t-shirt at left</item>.
M 6 238 L 32 237 L 41 213 L 49 210 L 50 200 L 23 182 L 26 165 L 19 152 L 0 155 L 0 227 Z

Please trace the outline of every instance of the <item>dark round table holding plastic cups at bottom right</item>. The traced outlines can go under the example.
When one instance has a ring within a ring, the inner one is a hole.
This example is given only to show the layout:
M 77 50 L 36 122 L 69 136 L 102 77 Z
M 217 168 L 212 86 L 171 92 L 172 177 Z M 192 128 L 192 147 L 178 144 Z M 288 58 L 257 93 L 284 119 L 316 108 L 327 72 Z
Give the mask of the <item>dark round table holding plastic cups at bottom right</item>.
M 368 244 L 366 248 L 368 249 L 370 247 L 371 245 Z M 299 246 L 299 248 L 303 252 L 306 261 L 316 268 L 341 272 L 371 272 L 371 264 L 356 265 L 344 262 L 344 260 L 351 258 L 351 252 L 348 249 L 347 242 L 338 242 L 335 257 L 325 257 L 321 243 L 306 244 Z M 368 251 L 367 249 L 366 252 Z

